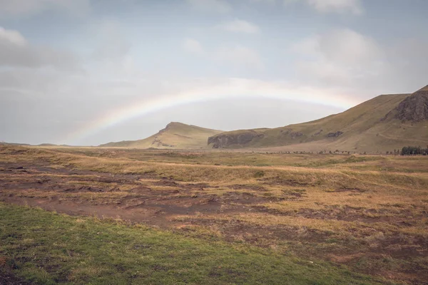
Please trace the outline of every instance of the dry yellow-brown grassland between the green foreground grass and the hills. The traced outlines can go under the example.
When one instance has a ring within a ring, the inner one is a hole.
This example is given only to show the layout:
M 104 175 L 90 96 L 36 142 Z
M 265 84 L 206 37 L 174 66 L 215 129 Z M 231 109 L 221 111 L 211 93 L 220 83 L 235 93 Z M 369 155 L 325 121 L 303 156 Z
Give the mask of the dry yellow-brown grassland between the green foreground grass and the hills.
M 9 183 L 0 197 L 98 207 L 109 217 L 370 274 L 413 272 L 398 281 L 421 280 L 428 269 L 428 157 L 106 151 L 0 147 L 0 180 Z M 7 172 L 17 165 L 30 171 Z M 50 182 L 37 188 L 41 178 Z

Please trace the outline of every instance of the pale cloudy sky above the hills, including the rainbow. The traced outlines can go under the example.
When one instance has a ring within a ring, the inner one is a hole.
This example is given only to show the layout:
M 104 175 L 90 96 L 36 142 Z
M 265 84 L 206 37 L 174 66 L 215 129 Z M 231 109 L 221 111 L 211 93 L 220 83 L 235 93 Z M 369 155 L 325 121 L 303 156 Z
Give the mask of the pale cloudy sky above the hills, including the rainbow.
M 0 0 L 0 142 L 275 128 L 428 84 L 426 0 Z

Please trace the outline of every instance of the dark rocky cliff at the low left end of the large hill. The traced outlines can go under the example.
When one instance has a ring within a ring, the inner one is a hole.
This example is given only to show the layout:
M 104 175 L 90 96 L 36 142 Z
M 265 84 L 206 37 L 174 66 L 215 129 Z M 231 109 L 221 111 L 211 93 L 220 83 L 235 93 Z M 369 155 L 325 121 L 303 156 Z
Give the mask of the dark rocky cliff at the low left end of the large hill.
M 246 130 L 239 133 L 220 133 L 208 138 L 208 145 L 213 148 L 230 147 L 231 145 L 245 145 L 255 138 L 263 138 L 263 133 L 254 130 Z

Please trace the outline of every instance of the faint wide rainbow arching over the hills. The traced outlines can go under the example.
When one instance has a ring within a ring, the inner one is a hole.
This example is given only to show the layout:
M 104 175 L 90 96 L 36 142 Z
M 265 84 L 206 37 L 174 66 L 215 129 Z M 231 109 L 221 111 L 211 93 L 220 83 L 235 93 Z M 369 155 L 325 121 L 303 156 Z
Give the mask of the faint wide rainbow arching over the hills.
M 263 83 L 263 81 L 254 83 L 254 81 L 235 79 L 235 81 L 230 81 L 228 86 L 205 86 L 205 88 L 162 95 L 156 99 L 143 99 L 132 105 L 121 106 L 96 120 L 82 125 L 81 128 L 67 136 L 66 142 L 81 142 L 89 135 L 111 128 L 118 123 L 156 113 L 160 110 L 228 98 L 293 100 L 302 103 L 328 105 L 342 110 L 359 103 L 350 96 L 334 94 L 328 90 L 322 92 L 312 88 L 287 88 L 271 83 Z

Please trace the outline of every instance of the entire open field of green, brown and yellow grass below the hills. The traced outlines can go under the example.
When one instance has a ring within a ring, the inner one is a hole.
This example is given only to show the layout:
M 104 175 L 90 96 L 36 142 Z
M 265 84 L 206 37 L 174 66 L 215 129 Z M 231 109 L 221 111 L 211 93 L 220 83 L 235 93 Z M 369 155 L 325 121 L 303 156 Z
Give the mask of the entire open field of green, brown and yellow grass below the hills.
M 0 146 L 0 200 L 11 278 L 428 284 L 428 157 Z

